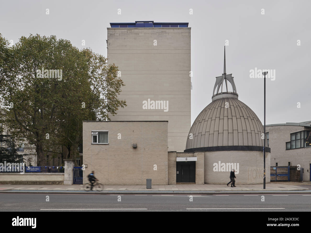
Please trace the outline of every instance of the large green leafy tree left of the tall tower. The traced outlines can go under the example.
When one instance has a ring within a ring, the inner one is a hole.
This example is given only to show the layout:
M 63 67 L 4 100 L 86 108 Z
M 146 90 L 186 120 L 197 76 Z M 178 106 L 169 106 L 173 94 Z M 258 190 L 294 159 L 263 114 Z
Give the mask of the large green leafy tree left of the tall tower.
M 61 145 L 69 149 L 67 158 L 72 150 L 75 159 L 82 121 L 110 120 L 109 113 L 126 106 L 117 98 L 124 85 L 118 67 L 108 66 L 106 58 L 89 49 L 38 34 L 21 37 L 12 47 L 0 35 L 0 49 L 4 122 L 15 138 L 36 146 L 39 166 L 48 151 L 55 156 Z M 42 69 L 45 78 L 40 78 Z M 62 77 L 51 78 L 50 70 L 62 70 Z

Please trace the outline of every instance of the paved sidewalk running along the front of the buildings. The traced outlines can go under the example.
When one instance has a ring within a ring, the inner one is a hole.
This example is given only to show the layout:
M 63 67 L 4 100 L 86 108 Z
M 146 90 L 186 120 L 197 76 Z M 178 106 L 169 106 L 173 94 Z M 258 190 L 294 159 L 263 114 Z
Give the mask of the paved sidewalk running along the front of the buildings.
M 310 182 L 309 182 L 310 183 Z M 294 182 L 270 182 L 263 189 L 263 184 L 236 185 L 235 188 L 223 184 L 175 184 L 175 185 L 152 185 L 152 189 L 146 189 L 146 185 L 104 185 L 104 191 L 293 191 L 308 190 L 298 185 L 309 183 Z M 14 190 L 80 190 L 83 185 L 11 185 L 0 184 L 0 191 Z M 311 185 L 310 185 L 311 190 Z

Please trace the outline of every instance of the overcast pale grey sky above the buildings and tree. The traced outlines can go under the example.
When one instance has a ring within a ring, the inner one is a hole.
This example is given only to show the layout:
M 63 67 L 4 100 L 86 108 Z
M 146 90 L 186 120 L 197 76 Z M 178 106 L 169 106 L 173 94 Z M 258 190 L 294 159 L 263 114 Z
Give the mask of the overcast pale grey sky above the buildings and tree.
M 234 77 L 239 100 L 262 123 L 263 79 L 250 78 L 250 70 L 255 67 L 275 70 L 275 80 L 266 80 L 266 124 L 311 120 L 309 0 L 1 0 L 0 6 L 0 33 L 14 43 L 30 34 L 56 35 L 78 48 L 90 47 L 104 56 L 107 56 L 110 22 L 189 22 L 192 122 L 211 102 L 215 77 L 223 73 L 225 40 L 229 40 L 227 74 L 232 73 Z M 86 46 L 81 45 L 81 40 L 86 41 Z

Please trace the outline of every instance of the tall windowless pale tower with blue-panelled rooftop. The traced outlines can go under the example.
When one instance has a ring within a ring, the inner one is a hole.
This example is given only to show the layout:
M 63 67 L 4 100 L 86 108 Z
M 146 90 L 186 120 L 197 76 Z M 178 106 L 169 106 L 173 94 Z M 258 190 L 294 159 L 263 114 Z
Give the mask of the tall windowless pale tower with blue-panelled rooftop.
M 183 152 L 191 126 L 191 28 L 153 21 L 110 26 L 108 64 L 121 71 L 119 98 L 128 105 L 111 120 L 169 121 L 168 150 Z

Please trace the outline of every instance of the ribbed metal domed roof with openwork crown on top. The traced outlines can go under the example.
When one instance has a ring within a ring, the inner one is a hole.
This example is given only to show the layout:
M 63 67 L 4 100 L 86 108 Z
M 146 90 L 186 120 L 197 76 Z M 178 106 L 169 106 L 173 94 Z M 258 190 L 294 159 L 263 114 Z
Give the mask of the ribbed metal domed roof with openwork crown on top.
M 212 102 L 202 110 L 191 126 L 185 152 L 262 150 L 262 123 L 252 109 L 238 100 L 231 74 L 229 78 L 234 92 L 228 92 L 227 88 L 227 92 L 218 93 L 220 85 L 222 91 L 224 80 L 227 86 L 227 76 L 224 67 L 224 74 L 216 78 L 214 92 L 218 85 L 217 93 L 212 96 Z

